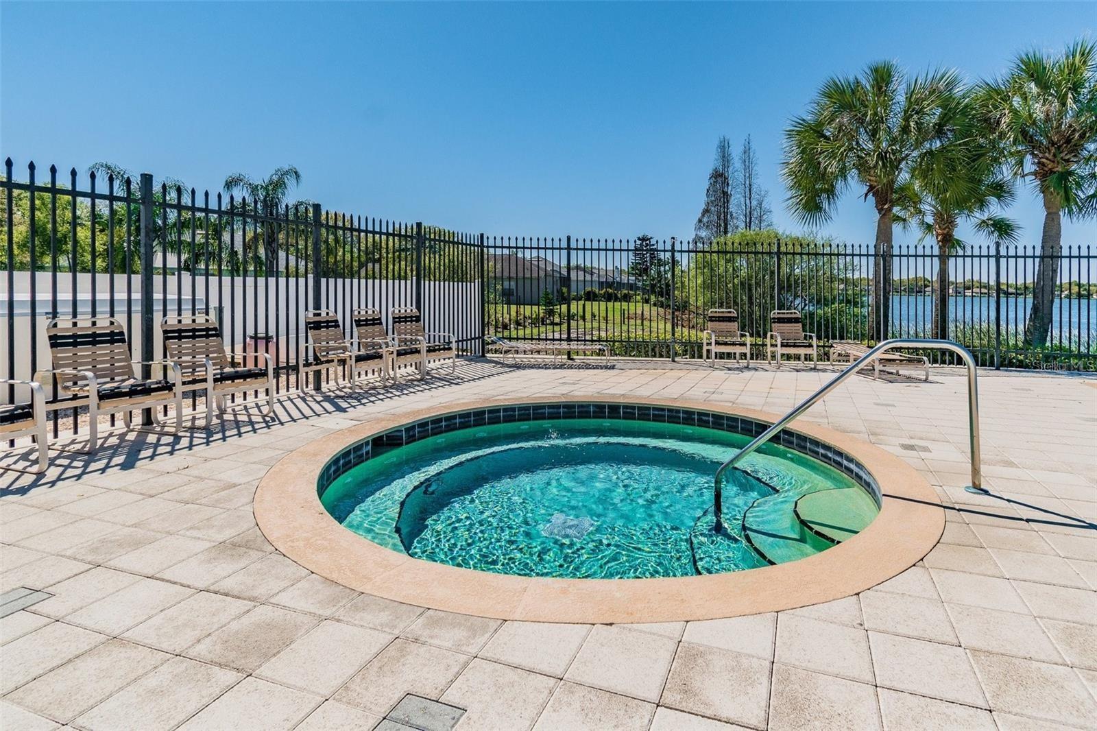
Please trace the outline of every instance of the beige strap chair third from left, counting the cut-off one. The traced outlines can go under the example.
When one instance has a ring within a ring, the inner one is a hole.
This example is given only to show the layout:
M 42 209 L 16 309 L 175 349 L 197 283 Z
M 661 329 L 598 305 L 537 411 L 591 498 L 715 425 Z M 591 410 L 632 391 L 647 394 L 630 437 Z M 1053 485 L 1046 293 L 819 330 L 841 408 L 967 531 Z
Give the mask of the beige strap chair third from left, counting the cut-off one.
M 274 363 L 265 352 L 225 352 L 220 327 L 208 315 L 168 315 L 160 320 L 163 347 L 179 364 L 183 391 L 206 392 L 206 428 L 227 409 L 225 396 L 265 391 L 263 416 L 274 413 Z M 245 366 L 250 360 L 251 367 Z M 246 406 L 260 400 L 241 401 Z M 216 406 L 216 414 L 214 407 Z

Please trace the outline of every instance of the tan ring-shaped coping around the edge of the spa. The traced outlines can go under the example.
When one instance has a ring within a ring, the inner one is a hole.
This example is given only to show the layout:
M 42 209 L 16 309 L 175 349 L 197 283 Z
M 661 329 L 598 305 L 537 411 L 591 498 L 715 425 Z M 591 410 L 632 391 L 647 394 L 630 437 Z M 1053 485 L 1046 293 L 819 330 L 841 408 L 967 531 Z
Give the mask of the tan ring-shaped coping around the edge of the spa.
M 321 437 L 280 460 L 259 482 L 256 520 L 267 539 L 306 569 L 374 596 L 466 615 L 541 622 L 661 622 L 792 609 L 863 592 L 906 571 L 937 544 L 945 510 L 937 493 L 897 457 L 824 427 L 810 435 L 859 460 L 883 492 L 868 528 L 813 556 L 726 574 L 670 578 L 538 578 L 457 569 L 382 548 L 343 528 L 320 504 L 317 479 L 337 452 L 426 417 L 474 408 L 557 402 L 644 404 L 745 416 L 747 408 L 685 400 L 568 396 L 480 400 L 372 419 Z

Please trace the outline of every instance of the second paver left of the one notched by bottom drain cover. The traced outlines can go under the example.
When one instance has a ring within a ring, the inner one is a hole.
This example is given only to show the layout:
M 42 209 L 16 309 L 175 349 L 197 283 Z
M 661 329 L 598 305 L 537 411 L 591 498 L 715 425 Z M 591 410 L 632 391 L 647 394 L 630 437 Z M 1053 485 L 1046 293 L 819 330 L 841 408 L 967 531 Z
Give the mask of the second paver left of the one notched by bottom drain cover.
M 317 623 L 308 615 L 260 605 L 192 645 L 186 656 L 253 673 Z

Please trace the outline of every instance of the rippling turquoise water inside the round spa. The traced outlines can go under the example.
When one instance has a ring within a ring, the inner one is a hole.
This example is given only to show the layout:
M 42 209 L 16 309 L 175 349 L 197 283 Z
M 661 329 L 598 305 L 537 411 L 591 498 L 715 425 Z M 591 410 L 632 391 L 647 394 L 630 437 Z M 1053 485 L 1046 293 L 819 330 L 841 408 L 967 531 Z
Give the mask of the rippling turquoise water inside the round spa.
M 338 477 L 321 502 L 381 546 L 479 571 L 575 578 L 742 571 L 781 560 L 745 540 L 748 509 L 748 526 L 795 531 L 795 497 L 860 490 L 822 462 L 767 445 L 744 461 L 748 475 L 727 481 L 728 530 L 714 533 L 713 474 L 747 441 L 620 419 L 473 427 L 374 457 Z M 798 540 L 808 552 L 826 548 Z

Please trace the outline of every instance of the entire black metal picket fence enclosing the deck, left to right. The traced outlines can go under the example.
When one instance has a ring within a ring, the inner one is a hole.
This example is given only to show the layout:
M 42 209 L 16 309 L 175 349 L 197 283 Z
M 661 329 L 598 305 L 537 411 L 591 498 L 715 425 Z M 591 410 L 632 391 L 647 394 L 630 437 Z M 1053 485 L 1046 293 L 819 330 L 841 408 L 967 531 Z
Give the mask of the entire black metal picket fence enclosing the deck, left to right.
M 7 160 L 0 373 L 10 378 L 48 367 L 43 326 L 69 315 L 120 318 L 135 358 L 151 359 L 162 352 L 161 317 L 212 314 L 230 349 L 274 357 L 280 390 L 294 385 L 304 311 L 320 307 L 335 311 L 350 337 L 357 307 L 387 317 L 417 306 L 427 329 L 454 334 L 473 355 L 495 335 L 604 342 L 619 357 L 698 358 L 705 313 L 715 307 L 737 310 L 757 340 L 779 308 L 803 312 L 824 349 L 836 339 L 873 340 L 872 247 L 485 236 L 315 203 L 199 194 L 155 185 L 149 175 L 103 180 L 52 167 L 43 179 L 30 164 L 19 178 Z M 930 246 L 897 249 L 890 336 L 952 338 L 982 366 L 1097 370 L 1097 262 L 1088 246 L 1066 247 L 1058 259 L 1049 342 L 1025 344 L 1040 258 L 1033 247 L 984 245 L 942 265 Z M 935 314 L 942 285 L 947 304 Z M 12 397 L 4 391 L 0 401 Z

